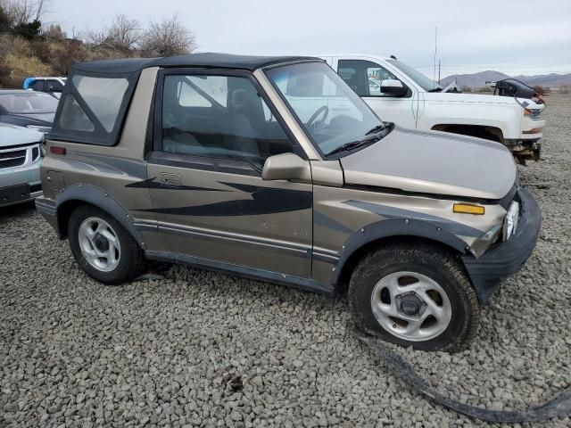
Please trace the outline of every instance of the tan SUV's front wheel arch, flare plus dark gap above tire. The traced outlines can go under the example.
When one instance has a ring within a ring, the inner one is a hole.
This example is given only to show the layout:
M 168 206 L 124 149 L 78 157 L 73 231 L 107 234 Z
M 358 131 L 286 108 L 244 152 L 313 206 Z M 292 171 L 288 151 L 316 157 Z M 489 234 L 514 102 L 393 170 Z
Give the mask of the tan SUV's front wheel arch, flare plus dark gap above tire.
M 392 243 L 428 243 L 454 255 L 466 254 L 468 244 L 439 226 L 415 219 L 393 218 L 366 226 L 353 233 L 343 244 L 341 256 L 335 264 L 333 284 L 343 291 L 349 284 L 352 271 L 369 251 Z M 462 268 L 464 263 L 460 260 Z

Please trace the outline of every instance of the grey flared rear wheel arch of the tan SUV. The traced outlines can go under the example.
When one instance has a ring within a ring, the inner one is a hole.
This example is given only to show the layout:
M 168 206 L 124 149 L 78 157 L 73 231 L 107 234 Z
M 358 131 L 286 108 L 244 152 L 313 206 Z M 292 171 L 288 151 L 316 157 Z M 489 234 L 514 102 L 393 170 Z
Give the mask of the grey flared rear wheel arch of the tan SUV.
M 128 210 L 111 194 L 95 185 L 72 185 L 58 195 L 56 201 L 57 223 L 62 238 L 66 238 L 68 235 L 68 220 L 71 212 L 80 205 L 91 205 L 115 218 L 133 236 L 139 247 L 145 250 L 143 236 L 133 225 L 133 218 Z

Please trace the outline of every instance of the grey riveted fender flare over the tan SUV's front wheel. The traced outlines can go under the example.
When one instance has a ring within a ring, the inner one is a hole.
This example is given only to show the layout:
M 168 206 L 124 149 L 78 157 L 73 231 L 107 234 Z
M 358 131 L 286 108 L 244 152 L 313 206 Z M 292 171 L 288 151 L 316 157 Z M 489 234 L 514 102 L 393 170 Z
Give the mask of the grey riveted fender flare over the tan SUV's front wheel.
M 468 252 L 468 244 L 459 239 L 458 236 L 444 230 L 441 226 L 434 226 L 428 221 L 418 220 L 414 218 L 391 218 L 377 221 L 368 226 L 360 228 L 358 231 L 349 235 L 345 243 L 343 243 L 340 257 L 335 263 L 334 276 L 332 284 L 337 286 L 343 268 L 352 255 L 363 248 L 368 243 L 378 241 L 379 239 L 391 238 L 396 236 L 415 236 L 426 238 L 436 243 L 443 243 L 460 254 Z

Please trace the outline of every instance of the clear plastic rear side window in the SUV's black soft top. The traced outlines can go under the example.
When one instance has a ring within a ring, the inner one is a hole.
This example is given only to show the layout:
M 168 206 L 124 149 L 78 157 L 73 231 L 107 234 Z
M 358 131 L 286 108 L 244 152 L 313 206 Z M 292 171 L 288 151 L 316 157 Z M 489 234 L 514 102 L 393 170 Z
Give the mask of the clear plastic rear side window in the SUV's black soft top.
M 75 73 L 64 86 L 49 137 L 84 144 L 115 145 L 138 73 Z

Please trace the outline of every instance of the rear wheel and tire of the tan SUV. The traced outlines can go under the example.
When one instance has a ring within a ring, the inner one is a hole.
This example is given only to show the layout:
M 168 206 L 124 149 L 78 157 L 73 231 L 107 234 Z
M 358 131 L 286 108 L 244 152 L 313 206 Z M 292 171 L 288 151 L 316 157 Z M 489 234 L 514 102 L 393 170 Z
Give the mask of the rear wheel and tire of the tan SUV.
M 87 229 L 94 233 L 92 238 L 87 237 L 91 234 Z M 68 240 L 79 266 L 100 283 L 123 284 L 145 269 L 145 255 L 133 236 L 115 218 L 91 205 L 71 213 Z

